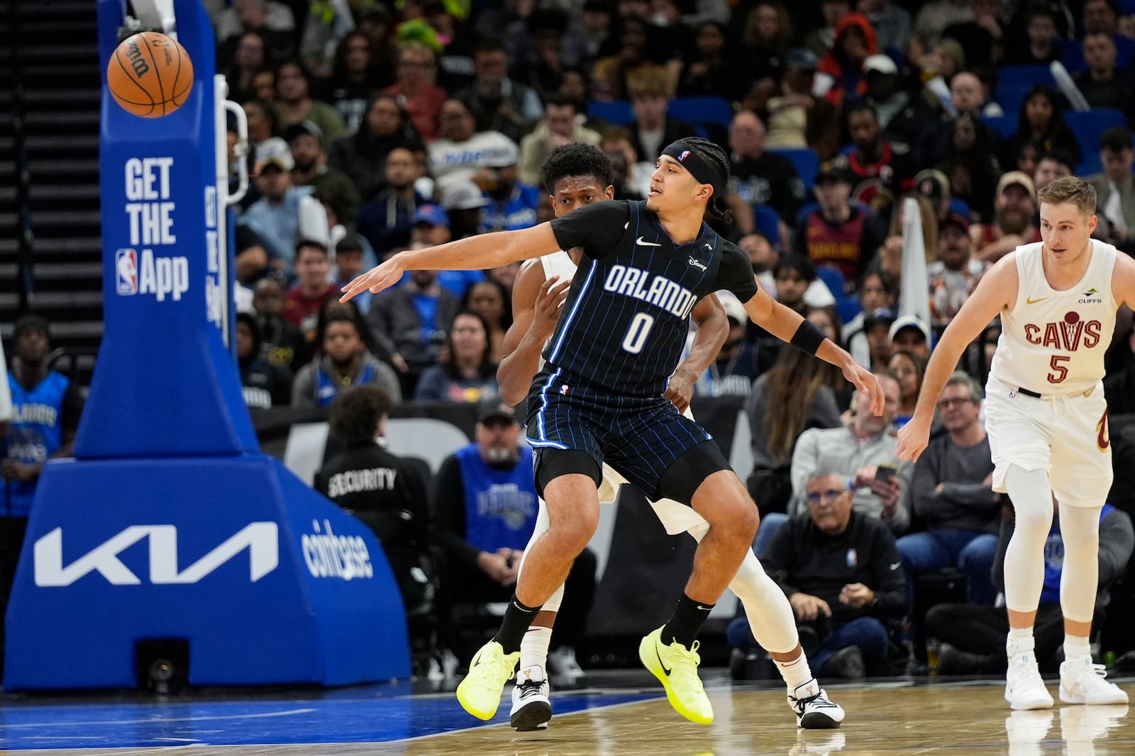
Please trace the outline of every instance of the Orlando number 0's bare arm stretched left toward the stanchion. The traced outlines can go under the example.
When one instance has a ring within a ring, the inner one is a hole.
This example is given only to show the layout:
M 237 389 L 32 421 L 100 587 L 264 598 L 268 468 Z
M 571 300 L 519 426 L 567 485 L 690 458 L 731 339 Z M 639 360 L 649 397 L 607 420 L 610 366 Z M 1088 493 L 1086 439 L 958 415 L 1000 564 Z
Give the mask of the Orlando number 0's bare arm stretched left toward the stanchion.
M 560 248 L 550 223 L 515 231 L 496 231 L 465 237 L 426 249 L 400 252 L 343 287 L 339 301 L 367 289 L 378 294 L 413 270 L 476 271 L 499 267 L 518 260 L 540 257 Z

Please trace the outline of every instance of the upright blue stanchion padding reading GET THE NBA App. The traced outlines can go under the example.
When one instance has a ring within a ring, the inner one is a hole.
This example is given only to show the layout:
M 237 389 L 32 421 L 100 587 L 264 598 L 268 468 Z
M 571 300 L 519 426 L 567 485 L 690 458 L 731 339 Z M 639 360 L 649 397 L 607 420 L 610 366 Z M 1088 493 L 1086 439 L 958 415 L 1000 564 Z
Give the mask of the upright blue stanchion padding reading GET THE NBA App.
M 118 46 L 123 5 L 99 0 L 102 70 Z M 222 338 L 233 308 L 220 280 L 213 33 L 200 2 L 174 7 L 193 62 L 187 102 L 163 118 L 140 118 L 103 87 L 106 331 L 75 441 L 79 459 L 258 449 Z

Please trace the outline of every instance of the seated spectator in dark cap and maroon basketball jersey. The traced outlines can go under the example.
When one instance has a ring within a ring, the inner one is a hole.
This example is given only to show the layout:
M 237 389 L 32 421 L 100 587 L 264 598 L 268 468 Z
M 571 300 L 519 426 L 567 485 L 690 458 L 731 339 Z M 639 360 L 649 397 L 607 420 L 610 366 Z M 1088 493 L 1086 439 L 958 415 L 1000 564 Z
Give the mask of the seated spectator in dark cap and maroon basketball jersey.
M 849 202 L 851 177 L 847 171 L 838 168 L 821 170 L 814 190 L 819 206 L 800 218 L 794 250 L 814 265 L 839 269 L 843 280 L 854 286 L 883 239 L 871 222 L 871 212 Z

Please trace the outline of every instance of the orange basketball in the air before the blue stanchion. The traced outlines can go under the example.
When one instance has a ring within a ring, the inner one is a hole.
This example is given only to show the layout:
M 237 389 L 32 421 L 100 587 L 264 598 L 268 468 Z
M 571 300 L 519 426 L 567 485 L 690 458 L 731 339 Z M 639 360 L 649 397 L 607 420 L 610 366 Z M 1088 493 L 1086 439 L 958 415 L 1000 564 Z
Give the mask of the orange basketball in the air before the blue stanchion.
M 115 50 L 107 66 L 107 86 L 124 110 L 161 118 L 188 99 L 193 62 L 177 40 L 161 32 L 140 32 Z

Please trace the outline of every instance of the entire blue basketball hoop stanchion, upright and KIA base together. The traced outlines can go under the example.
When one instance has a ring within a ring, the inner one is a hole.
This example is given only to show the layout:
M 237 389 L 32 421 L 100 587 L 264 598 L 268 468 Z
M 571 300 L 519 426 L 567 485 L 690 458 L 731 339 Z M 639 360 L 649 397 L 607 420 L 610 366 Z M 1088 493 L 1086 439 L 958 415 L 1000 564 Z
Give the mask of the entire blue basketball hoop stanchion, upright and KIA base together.
M 124 7 L 98 3 L 103 69 Z M 199 0 L 173 8 L 188 101 L 143 119 L 102 96 L 106 332 L 75 459 L 40 477 L 5 689 L 133 687 L 140 648 L 161 643 L 187 648 L 191 685 L 409 677 L 402 600 L 373 535 L 259 450 L 226 346 L 213 34 Z

